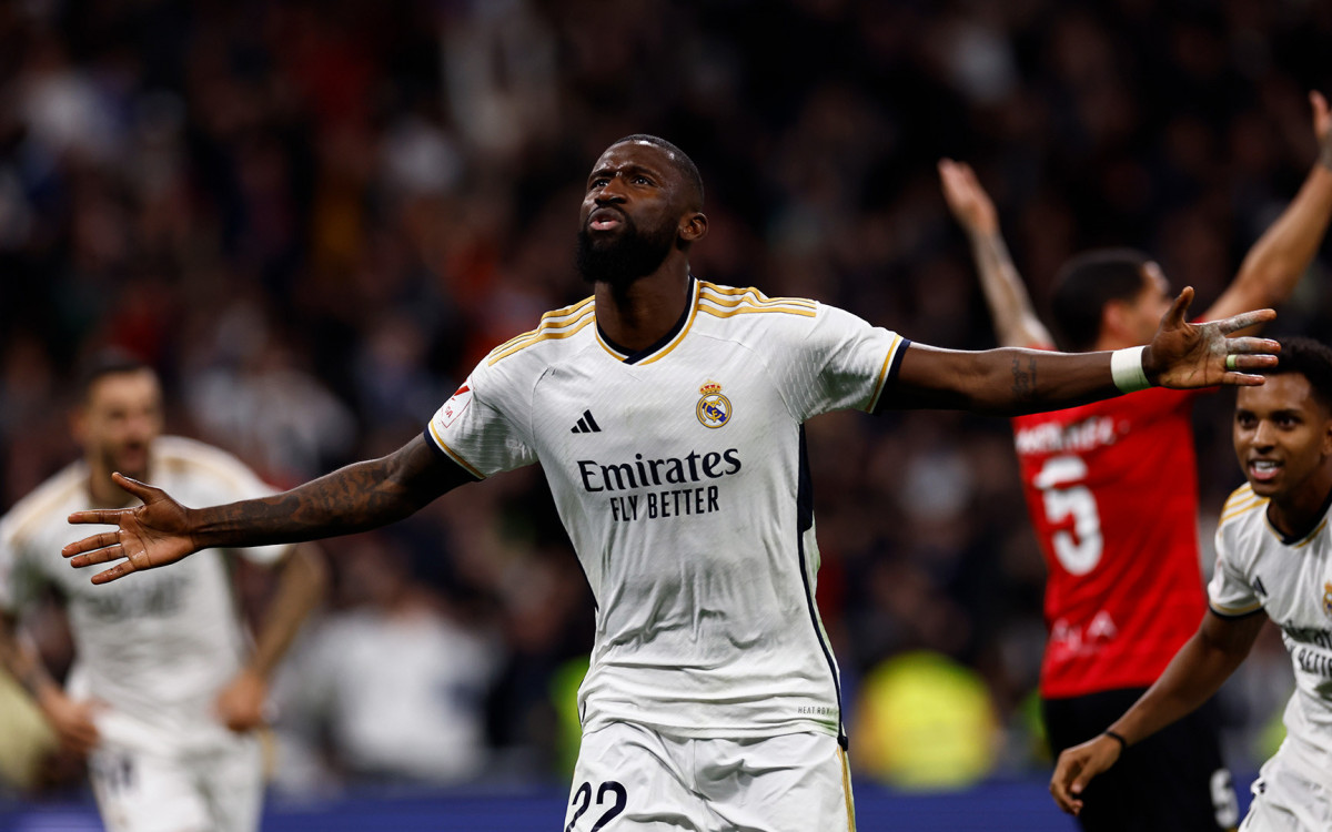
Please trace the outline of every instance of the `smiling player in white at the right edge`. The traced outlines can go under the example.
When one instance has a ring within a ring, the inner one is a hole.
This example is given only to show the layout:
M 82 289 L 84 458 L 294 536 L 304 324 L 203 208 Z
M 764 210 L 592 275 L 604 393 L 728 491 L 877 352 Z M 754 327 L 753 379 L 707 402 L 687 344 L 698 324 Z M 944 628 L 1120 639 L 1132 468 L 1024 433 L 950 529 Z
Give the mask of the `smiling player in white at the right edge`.
M 1160 679 L 1099 737 L 1059 756 L 1066 811 L 1120 752 L 1203 703 L 1240 666 L 1267 619 L 1281 628 L 1296 690 L 1287 737 L 1253 783 L 1241 831 L 1332 829 L 1332 349 L 1281 341 L 1267 383 L 1239 391 L 1235 453 L 1248 483 L 1221 509 L 1209 610 Z

